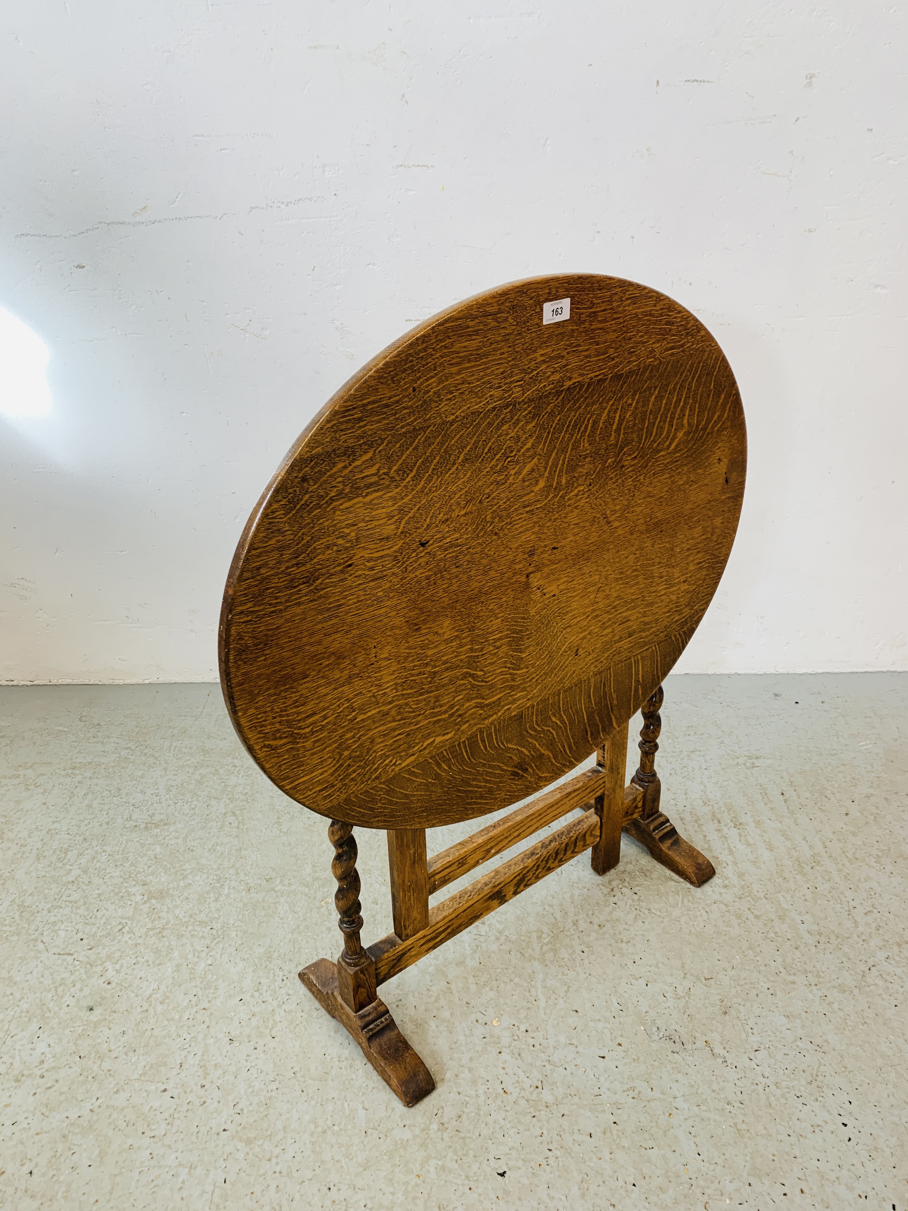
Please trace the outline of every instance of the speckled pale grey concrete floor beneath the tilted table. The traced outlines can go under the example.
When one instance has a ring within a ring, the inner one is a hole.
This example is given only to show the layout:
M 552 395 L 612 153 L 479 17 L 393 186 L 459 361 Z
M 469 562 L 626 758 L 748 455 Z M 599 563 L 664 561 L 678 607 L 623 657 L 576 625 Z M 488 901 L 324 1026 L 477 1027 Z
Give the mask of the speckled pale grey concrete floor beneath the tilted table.
M 907 707 L 669 678 L 663 807 L 716 878 L 626 839 L 386 985 L 408 1110 L 297 980 L 339 949 L 326 821 L 218 687 L 0 691 L 0 1204 L 904 1211 Z

